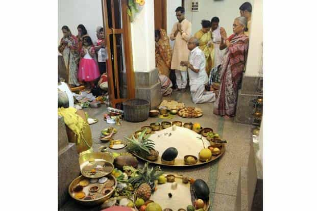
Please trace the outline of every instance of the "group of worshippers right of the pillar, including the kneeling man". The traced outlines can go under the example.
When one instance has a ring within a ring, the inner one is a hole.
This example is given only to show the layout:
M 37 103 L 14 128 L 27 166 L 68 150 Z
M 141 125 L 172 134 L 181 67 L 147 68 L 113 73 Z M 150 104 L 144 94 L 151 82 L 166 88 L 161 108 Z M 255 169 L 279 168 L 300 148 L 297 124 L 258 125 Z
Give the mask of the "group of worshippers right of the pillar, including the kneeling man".
M 174 41 L 173 50 L 166 32 L 155 31 L 156 67 L 160 79 L 163 77 L 165 81 L 163 95 L 172 93 L 172 84 L 176 84 L 175 91 L 184 92 L 189 76 L 194 103 L 215 102 L 214 114 L 228 118 L 235 115 L 238 88 L 247 60 L 252 6 L 246 2 L 239 10 L 241 16 L 234 19 L 234 34 L 229 37 L 220 27 L 218 17 L 202 20 L 202 29 L 191 36 L 191 23 L 185 19 L 183 7 L 175 10 L 178 22 L 169 35 Z M 176 83 L 172 82 L 173 70 Z M 220 85 L 217 86 L 217 82 Z

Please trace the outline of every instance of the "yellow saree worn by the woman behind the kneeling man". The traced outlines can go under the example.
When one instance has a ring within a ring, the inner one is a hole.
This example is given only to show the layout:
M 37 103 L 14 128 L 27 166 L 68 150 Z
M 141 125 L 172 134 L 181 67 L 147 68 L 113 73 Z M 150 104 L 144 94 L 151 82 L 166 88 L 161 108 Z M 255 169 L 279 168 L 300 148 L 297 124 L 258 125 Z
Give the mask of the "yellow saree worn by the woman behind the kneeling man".
M 199 30 L 194 34 L 194 37 L 199 39 L 199 48 L 204 52 L 206 58 L 206 72 L 209 76 L 210 70 L 212 68 L 212 58 L 214 58 L 214 46 L 211 38 L 211 32 L 204 33 L 202 30 Z M 208 46 L 210 43 L 210 47 Z

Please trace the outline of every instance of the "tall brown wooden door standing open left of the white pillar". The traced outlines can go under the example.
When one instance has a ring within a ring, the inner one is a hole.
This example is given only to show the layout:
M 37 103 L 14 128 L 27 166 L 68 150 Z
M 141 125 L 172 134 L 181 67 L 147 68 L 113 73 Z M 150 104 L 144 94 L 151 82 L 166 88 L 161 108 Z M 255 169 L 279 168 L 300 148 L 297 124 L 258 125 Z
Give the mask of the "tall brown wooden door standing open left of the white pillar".
M 108 94 L 112 107 L 134 98 L 134 70 L 131 49 L 128 0 L 103 0 L 103 21 L 108 48 Z

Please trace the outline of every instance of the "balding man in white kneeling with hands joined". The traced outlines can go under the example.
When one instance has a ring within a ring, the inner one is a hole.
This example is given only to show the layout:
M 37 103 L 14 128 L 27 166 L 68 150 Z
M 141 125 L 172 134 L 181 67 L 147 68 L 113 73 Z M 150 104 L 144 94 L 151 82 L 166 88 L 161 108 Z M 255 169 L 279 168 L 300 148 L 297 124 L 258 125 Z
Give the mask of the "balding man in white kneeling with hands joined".
M 204 52 L 199 48 L 199 40 L 191 37 L 187 42 L 187 47 L 190 50 L 189 61 L 182 61 L 180 65 L 187 67 L 192 102 L 195 104 L 214 102 L 215 94 L 205 91 L 208 76 L 205 70 L 206 59 Z

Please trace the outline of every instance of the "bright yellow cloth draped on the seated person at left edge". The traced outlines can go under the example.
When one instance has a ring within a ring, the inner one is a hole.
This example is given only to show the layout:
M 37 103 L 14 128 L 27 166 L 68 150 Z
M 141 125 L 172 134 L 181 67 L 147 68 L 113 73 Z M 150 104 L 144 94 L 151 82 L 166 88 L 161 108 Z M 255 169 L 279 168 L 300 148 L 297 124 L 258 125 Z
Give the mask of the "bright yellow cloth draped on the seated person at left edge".
M 59 108 L 58 115 L 64 118 L 65 124 L 71 129 L 77 136 L 77 143 L 83 139 L 86 145 L 90 148 L 85 141 L 83 131 L 88 124 L 81 118 L 79 115 L 76 114 L 77 109 L 69 107 L 67 109 Z

